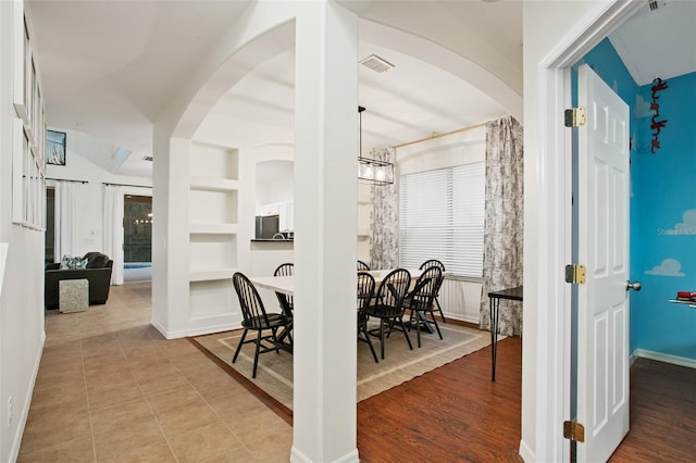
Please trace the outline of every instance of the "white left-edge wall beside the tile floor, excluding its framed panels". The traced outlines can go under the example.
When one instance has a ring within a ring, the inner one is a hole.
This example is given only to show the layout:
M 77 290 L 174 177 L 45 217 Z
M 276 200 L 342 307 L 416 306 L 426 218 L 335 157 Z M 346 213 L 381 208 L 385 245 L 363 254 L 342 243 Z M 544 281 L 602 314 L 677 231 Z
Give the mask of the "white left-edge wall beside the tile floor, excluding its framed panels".
M 0 2 L 0 243 L 7 246 L 0 281 L 2 462 L 16 459 L 45 341 L 44 233 L 12 223 L 12 126 L 16 117 L 12 104 L 15 72 L 12 33 L 13 9 L 17 7 L 21 8 L 21 2 Z M 18 14 L 22 17 L 21 10 Z M 36 65 L 40 75 L 40 63 Z

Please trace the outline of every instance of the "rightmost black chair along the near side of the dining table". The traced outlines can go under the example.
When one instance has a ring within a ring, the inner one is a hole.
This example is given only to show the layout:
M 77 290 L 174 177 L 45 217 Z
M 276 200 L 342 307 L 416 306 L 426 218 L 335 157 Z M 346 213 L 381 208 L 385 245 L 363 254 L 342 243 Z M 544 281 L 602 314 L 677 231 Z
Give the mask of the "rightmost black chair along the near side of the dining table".
M 435 320 L 435 296 L 442 285 L 443 271 L 437 266 L 426 268 L 415 280 L 413 290 L 406 295 L 403 308 L 409 311 L 409 330 L 415 325 L 418 333 L 418 347 L 421 347 L 421 327 L 425 326 L 430 331 L 430 325 L 435 326 L 439 338 L 443 333 L 439 330 L 437 320 Z M 427 315 L 430 314 L 430 318 Z

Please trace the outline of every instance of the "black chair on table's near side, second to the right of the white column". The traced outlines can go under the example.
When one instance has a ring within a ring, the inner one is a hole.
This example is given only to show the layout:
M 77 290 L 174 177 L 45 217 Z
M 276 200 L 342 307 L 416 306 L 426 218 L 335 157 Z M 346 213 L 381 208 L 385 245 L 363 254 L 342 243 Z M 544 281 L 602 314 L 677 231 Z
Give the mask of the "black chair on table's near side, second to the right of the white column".
M 411 274 L 409 271 L 397 268 L 390 272 L 380 284 L 373 303 L 368 309 L 370 317 L 380 320 L 380 327 L 370 329 L 368 334 L 380 338 L 382 359 L 384 359 L 385 335 L 388 337 L 394 330 L 402 331 L 409 349 L 413 350 L 411 339 L 403 325 L 403 298 L 410 285 Z

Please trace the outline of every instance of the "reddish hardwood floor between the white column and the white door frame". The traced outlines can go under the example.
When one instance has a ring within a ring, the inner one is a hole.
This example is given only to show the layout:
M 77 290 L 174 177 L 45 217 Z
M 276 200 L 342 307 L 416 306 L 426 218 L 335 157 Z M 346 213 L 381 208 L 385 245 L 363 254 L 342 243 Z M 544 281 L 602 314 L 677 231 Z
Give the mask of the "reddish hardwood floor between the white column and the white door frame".
M 482 349 L 358 403 L 361 462 L 521 462 L 522 342 Z

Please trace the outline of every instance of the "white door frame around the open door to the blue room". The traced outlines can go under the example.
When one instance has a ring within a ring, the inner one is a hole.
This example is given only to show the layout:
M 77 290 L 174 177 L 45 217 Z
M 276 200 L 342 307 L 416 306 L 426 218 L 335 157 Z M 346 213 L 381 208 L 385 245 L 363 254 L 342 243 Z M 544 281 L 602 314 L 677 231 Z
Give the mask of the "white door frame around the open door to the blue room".
M 547 336 L 536 342 L 537 388 L 536 442 L 532 451 L 522 441 L 520 454 L 536 461 L 569 461 L 570 441 L 563 439 L 562 423 L 570 418 L 571 299 L 562 268 L 572 250 L 572 137 L 563 127 L 563 110 L 571 104 L 570 67 L 607 37 L 644 2 L 612 0 L 599 3 L 593 15 L 569 30 L 559 46 L 538 64 L 539 216 L 544 216 L 547 249 L 539 255 L 537 317 L 545 321 Z M 539 238 L 540 239 L 540 238 Z M 540 326 L 540 325 L 539 325 Z M 539 334 L 543 333 L 539 330 Z M 544 398 L 544 400 L 539 400 Z M 525 404 L 522 404 L 523 410 Z M 523 417 L 524 422 L 524 417 Z M 530 442 L 532 443 L 532 442 Z

